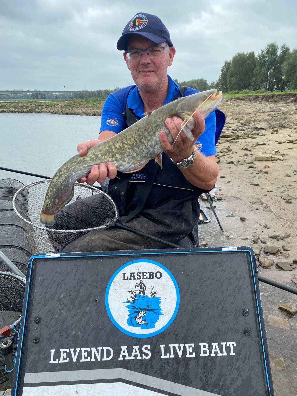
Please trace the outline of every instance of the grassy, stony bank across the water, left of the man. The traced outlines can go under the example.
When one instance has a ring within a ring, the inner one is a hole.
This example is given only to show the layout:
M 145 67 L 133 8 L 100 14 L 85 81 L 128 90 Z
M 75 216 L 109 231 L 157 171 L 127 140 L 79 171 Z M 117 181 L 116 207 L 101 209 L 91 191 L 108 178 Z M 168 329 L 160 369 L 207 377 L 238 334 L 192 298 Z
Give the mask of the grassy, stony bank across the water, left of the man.
M 0 102 L 0 113 L 50 113 L 101 116 L 103 98 Z

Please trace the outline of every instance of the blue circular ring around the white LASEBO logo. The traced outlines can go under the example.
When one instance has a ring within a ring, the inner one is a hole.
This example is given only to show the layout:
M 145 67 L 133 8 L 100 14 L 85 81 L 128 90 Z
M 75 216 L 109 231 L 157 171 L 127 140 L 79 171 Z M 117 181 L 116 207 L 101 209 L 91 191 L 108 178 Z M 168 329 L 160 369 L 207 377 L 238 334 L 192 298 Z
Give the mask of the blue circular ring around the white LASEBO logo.
M 158 267 L 162 268 L 165 272 L 167 272 L 167 274 L 170 276 L 174 286 L 175 286 L 175 292 L 176 292 L 176 305 L 175 305 L 175 310 L 170 318 L 170 320 L 166 323 L 165 326 L 161 327 L 161 329 L 154 331 L 153 333 L 149 333 L 149 334 L 135 334 L 135 333 L 131 333 L 130 331 L 127 331 L 126 329 L 124 329 L 122 326 L 120 326 L 116 320 L 114 319 L 114 317 L 112 316 L 112 313 L 110 312 L 110 308 L 109 308 L 109 301 L 108 301 L 108 296 L 109 296 L 109 289 L 110 286 L 112 284 L 112 282 L 114 281 L 114 278 L 117 276 L 117 274 L 119 272 L 121 272 L 124 268 L 128 267 L 131 264 L 135 264 L 135 263 L 143 263 L 143 262 L 147 262 L 147 263 L 152 263 L 157 265 Z M 114 324 L 114 326 L 116 326 L 117 329 L 119 329 L 120 331 L 122 331 L 123 333 L 130 335 L 131 337 L 135 337 L 135 338 L 149 338 L 149 337 L 154 337 L 154 335 L 160 334 L 162 333 L 162 331 L 166 330 L 167 327 L 169 327 L 171 325 L 171 323 L 173 322 L 173 320 L 175 319 L 175 316 L 177 315 L 177 311 L 179 310 L 179 302 L 180 302 L 180 296 L 179 296 L 179 288 L 177 286 L 177 282 L 175 280 L 175 278 L 173 277 L 173 275 L 171 274 L 171 272 L 164 267 L 164 265 L 158 263 L 157 261 L 154 260 L 146 260 L 146 259 L 142 259 L 142 260 L 132 260 L 129 261 L 128 263 L 122 265 L 122 267 L 118 268 L 118 270 L 116 272 L 114 272 L 114 274 L 112 275 L 112 277 L 110 278 L 110 281 L 108 282 L 106 291 L 105 291 L 105 307 L 109 316 L 109 319 L 112 321 L 112 323 Z

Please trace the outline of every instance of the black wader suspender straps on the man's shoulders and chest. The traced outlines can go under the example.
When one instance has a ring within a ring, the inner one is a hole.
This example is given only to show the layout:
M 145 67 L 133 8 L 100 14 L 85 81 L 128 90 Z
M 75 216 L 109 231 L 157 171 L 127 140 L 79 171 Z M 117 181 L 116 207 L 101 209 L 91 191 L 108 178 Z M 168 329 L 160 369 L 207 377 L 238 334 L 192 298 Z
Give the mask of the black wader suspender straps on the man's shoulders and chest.
M 178 97 L 182 97 L 183 93 L 188 87 L 184 86 L 179 86 L 179 92 L 180 95 Z M 177 99 L 177 98 L 175 98 Z M 129 109 L 127 102 L 126 102 L 126 112 L 124 114 L 124 120 L 126 121 L 126 124 L 129 126 L 135 124 L 137 122 L 137 119 L 135 118 L 134 114 L 131 112 Z M 151 162 L 150 163 L 150 168 L 149 172 L 147 174 L 147 179 L 143 183 L 143 187 L 139 190 L 138 192 L 138 197 L 137 197 L 137 206 L 136 208 L 128 214 L 126 217 L 122 217 L 122 221 L 127 223 L 129 220 L 131 220 L 133 217 L 135 217 L 143 208 L 143 205 L 145 204 L 145 201 L 147 200 L 148 194 L 150 193 L 150 190 L 152 188 L 152 185 L 154 184 L 154 180 L 156 178 L 156 174 L 158 171 L 159 165 L 157 163 Z

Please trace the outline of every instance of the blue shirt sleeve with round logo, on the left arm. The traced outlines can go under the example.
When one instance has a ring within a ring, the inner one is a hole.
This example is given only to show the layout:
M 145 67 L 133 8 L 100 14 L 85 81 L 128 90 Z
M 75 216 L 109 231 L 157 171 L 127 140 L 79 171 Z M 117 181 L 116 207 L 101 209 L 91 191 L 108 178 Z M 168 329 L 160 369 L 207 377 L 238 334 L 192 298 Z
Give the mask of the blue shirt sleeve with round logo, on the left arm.
M 124 129 L 125 123 L 121 104 L 118 99 L 112 93 L 110 93 L 103 105 L 100 132 L 112 131 L 119 133 Z

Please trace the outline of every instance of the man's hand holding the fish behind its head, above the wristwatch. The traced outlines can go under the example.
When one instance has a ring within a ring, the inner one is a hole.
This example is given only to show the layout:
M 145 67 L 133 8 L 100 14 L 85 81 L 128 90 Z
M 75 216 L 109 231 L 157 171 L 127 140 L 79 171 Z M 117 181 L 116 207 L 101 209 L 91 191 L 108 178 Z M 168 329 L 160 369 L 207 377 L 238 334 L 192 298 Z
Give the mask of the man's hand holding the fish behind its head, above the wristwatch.
M 185 158 L 188 158 L 193 152 L 193 146 L 198 137 L 205 130 L 205 120 L 200 110 L 197 110 L 193 115 L 195 121 L 195 128 L 192 129 L 192 135 L 194 136 L 194 141 L 191 141 L 184 133 L 181 131 L 179 137 L 176 142 L 170 143 L 167 135 L 164 131 L 161 131 L 159 134 L 160 142 L 162 147 L 164 148 L 165 153 L 173 159 L 174 162 L 181 162 Z M 181 118 L 174 116 L 166 119 L 166 126 L 169 129 L 173 137 L 173 142 L 175 141 L 179 131 L 181 130 Z M 173 145 L 173 147 L 172 147 Z

